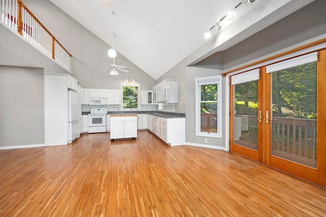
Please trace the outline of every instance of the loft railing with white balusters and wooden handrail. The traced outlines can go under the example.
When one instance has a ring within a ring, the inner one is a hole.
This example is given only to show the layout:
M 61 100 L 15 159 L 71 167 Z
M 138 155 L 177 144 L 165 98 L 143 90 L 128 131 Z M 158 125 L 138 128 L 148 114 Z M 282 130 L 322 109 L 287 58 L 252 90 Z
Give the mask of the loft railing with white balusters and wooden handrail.
M 71 54 L 20 0 L 0 0 L 1 21 L 70 71 Z

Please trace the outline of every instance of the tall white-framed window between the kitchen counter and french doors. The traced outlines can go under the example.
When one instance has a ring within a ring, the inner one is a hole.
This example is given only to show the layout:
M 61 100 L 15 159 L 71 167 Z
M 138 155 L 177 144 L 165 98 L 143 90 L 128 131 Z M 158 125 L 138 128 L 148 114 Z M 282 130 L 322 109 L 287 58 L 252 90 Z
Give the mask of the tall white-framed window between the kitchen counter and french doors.
M 196 136 L 222 137 L 222 76 L 196 78 Z

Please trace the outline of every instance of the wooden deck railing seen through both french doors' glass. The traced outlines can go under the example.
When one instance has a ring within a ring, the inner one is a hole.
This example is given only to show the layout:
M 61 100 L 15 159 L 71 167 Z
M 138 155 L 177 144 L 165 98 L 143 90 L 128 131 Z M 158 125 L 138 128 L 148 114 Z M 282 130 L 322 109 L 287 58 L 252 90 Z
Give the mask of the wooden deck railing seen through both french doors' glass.
M 243 117 L 246 120 L 246 128 L 240 127 L 239 140 L 257 144 L 257 116 L 236 115 L 236 117 Z M 314 167 L 317 147 L 317 120 L 275 118 L 271 126 L 272 154 Z M 243 121 L 241 124 L 243 125 Z

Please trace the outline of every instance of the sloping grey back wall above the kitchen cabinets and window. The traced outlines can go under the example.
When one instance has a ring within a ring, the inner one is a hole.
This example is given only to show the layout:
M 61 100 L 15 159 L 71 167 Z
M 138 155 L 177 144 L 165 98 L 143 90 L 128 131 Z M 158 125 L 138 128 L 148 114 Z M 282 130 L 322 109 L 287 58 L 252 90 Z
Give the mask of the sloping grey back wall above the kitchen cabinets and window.
M 127 66 L 130 72 L 110 76 L 107 73 L 113 64 L 113 59 L 107 56 L 110 46 L 50 1 L 24 0 L 23 3 L 72 54 L 73 76 L 83 88 L 118 89 L 127 77 L 135 78 L 142 90 L 151 90 L 155 85 L 153 78 L 119 53 L 116 64 Z

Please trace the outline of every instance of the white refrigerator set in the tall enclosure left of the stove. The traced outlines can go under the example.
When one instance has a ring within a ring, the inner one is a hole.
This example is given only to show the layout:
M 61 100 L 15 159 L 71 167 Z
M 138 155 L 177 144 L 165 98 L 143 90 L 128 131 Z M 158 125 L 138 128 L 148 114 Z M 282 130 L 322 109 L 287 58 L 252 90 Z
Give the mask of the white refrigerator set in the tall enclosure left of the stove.
M 80 136 L 80 102 L 79 94 L 75 91 L 68 90 L 68 107 L 69 107 L 69 143 Z

